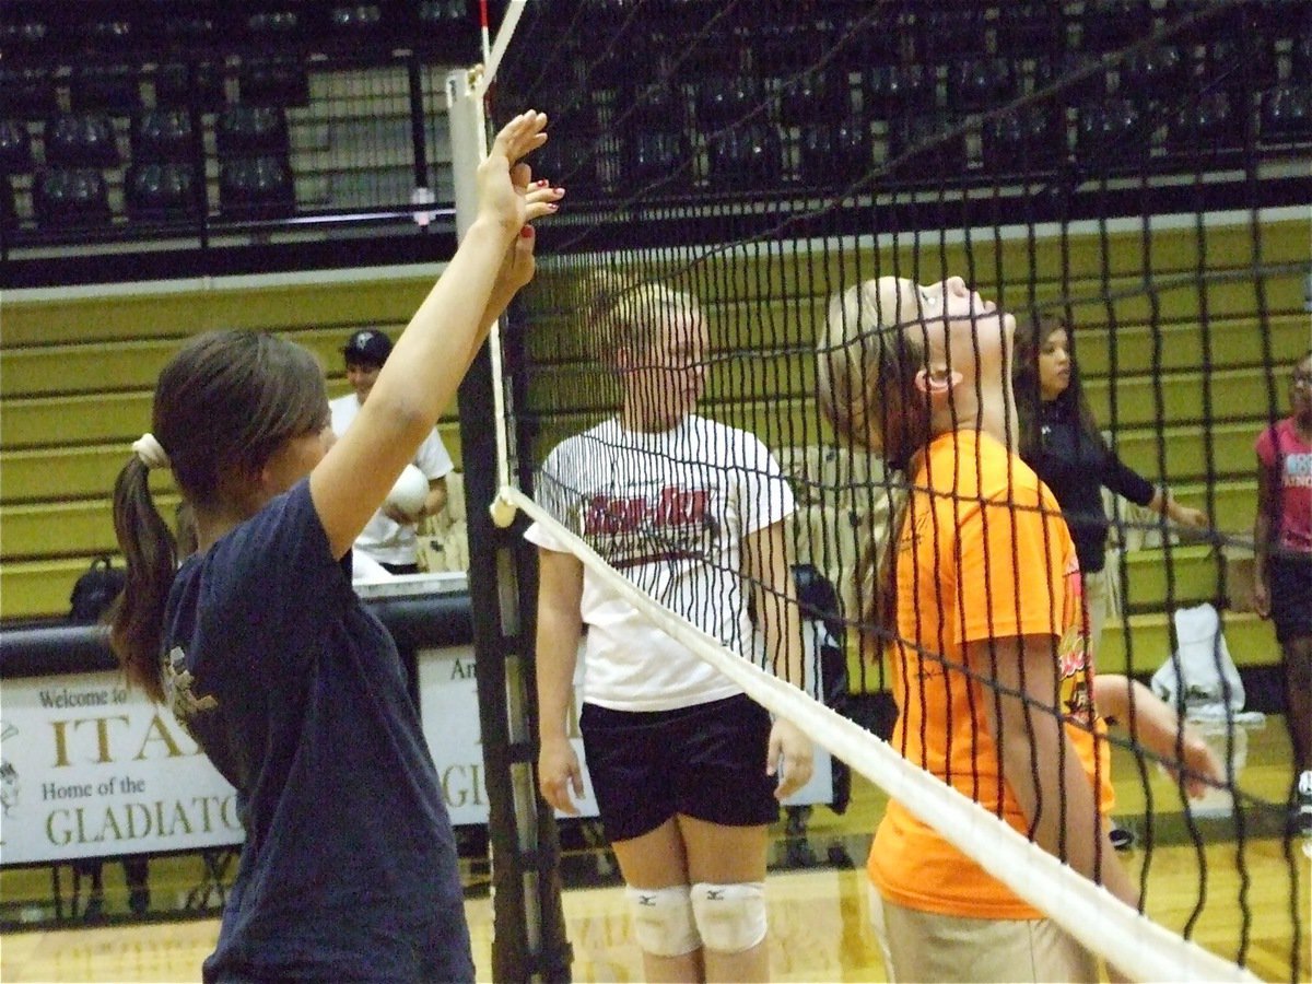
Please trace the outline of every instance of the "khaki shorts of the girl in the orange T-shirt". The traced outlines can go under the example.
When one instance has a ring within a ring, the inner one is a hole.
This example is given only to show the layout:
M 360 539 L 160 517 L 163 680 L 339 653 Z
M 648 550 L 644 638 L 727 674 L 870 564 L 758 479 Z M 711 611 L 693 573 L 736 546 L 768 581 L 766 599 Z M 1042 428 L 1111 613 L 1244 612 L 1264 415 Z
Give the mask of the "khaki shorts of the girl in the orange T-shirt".
M 870 921 L 891 981 L 1090 981 L 1098 959 L 1052 920 L 920 912 L 870 887 Z

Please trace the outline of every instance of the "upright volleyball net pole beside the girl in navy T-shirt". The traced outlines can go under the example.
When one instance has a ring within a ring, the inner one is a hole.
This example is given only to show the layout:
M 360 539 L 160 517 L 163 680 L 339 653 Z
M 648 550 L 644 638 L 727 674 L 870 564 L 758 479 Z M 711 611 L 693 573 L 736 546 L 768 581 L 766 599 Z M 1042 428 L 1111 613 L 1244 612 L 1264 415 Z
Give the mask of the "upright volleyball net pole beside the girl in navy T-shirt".
M 445 87 L 461 236 L 478 214 L 476 171 L 487 155 L 478 77 L 476 70 L 450 72 Z M 492 977 L 568 980 L 560 845 L 552 811 L 537 795 L 534 558 L 517 533 L 492 522 L 497 483 L 508 474 L 501 380 L 493 328 L 459 391 L 468 538 L 482 547 L 470 552 L 468 585 L 471 600 L 478 600 L 471 618 L 492 849 Z

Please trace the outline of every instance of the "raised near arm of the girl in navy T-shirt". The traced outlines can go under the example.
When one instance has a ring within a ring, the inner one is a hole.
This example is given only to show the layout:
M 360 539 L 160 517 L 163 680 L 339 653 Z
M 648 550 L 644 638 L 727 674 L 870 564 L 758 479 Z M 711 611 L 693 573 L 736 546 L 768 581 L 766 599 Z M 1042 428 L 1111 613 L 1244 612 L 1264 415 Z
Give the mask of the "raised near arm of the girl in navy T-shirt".
M 485 331 L 506 252 L 525 222 L 546 214 L 527 201 L 526 168 L 512 165 L 546 140 L 546 117 L 506 125 L 479 165 L 479 214 L 383 366 L 359 416 L 310 476 L 333 556 L 342 556 L 428 437 Z M 513 266 L 513 269 L 520 269 Z

